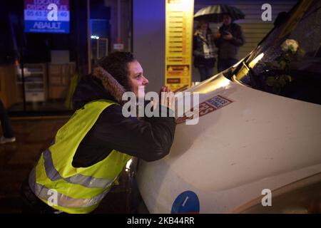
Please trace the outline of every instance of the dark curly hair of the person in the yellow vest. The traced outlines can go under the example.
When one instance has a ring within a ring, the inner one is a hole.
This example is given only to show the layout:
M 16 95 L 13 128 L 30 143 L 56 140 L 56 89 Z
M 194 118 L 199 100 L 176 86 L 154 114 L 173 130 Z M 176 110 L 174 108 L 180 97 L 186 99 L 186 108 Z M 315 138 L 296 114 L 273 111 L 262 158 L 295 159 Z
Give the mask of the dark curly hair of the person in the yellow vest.
M 125 88 L 125 90 L 131 90 L 131 86 L 128 80 L 128 63 L 136 61 L 135 56 L 131 52 L 115 51 L 99 59 L 96 63 L 97 66 L 101 66 L 104 70 L 115 78 L 118 83 Z

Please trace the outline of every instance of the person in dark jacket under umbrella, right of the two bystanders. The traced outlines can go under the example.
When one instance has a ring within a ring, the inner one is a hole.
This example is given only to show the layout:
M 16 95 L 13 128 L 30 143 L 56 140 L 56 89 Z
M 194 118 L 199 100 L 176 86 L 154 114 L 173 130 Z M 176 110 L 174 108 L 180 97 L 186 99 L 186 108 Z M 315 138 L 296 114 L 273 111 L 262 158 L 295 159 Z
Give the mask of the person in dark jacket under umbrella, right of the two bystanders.
M 218 72 L 238 62 L 235 57 L 238 54 L 238 48 L 244 43 L 242 28 L 233 23 L 230 14 L 223 14 L 223 25 L 215 34 L 215 45 L 218 47 Z

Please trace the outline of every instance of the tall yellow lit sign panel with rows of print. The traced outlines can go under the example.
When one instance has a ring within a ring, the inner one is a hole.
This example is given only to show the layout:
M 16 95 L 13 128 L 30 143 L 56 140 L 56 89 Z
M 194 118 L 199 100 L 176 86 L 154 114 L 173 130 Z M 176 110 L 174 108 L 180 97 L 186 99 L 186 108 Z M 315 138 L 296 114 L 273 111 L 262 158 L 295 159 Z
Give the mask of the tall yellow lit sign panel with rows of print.
M 194 0 L 165 1 L 165 85 L 183 90 L 191 83 Z

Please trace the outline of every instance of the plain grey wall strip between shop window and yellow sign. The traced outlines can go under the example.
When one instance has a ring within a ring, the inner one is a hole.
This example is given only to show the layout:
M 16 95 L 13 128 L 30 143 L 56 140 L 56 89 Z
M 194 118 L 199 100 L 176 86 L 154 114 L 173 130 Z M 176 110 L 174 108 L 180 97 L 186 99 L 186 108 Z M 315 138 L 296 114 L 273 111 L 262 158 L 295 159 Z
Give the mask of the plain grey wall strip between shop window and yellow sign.
M 148 91 L 165 83 L 165 1 L 133 0 L 133 53 L 149 80 Z

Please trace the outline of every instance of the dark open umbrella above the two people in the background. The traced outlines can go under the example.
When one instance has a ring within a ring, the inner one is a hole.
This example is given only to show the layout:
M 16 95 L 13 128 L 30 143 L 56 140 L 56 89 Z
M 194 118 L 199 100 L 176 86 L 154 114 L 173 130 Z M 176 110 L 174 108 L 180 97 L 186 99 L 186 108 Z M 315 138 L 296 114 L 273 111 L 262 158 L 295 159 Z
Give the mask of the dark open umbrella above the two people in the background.
M 245 18 L 245 14 L 234 6 L 214 5 L 200 9 L 194 15 L 194 19 L 197 21 L 220 23 L 223 21 L 223 14 L 230 14 L 232 21 Z

